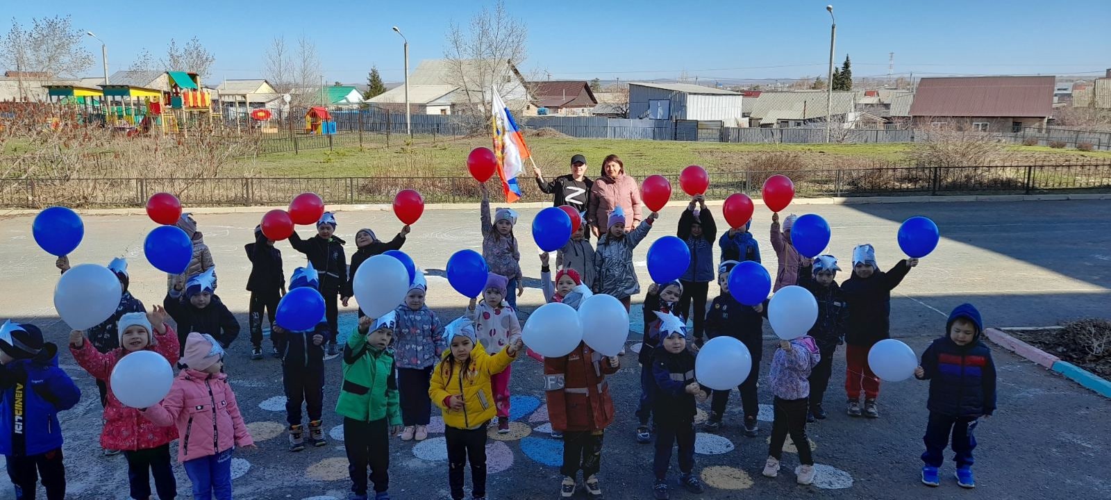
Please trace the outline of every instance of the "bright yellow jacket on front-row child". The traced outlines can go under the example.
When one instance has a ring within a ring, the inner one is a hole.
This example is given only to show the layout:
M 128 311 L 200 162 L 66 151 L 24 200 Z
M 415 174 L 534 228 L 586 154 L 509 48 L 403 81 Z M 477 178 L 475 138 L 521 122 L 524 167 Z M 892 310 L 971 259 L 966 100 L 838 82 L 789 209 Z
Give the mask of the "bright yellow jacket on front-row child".
M 456 429 L 478 429 L 484 426 L 498 412 L 493 402 L 493 390 L 490 388 L 490 376 L 501 373 L 513 362 L 514 356 L 507 352 L 509 346 L 494 356 L 487 354 L 482 344 L 474 342 L 471 349 L 470 364 L 467 373 L 460 379 L 459 363 L 449 363 L 451 349 L 443 351 L 440 364 L 432 371 L 432 384 L 428 394 L 436 406 L 443 410 L 443 423 Z M 450 373 L 449 373 L 450 370 Z M 463 409 L 452 410 L 444 400 L 453 394 L 463 394 Z

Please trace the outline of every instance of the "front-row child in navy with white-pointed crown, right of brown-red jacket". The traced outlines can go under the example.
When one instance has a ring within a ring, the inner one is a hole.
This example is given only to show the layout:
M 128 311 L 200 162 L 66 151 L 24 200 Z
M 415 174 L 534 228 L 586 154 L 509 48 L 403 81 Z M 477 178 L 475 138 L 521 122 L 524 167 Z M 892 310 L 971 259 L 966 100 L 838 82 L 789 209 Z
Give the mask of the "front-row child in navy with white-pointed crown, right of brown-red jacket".
M 655 312 L 660 318 L 660 347 L 652 350 L 652 381 L 655 383 L 655 457 L 652 492 L 657 500 L 668 500 L 668 469 L 671 447 L 679 444 L 679 484 L 692 493 L 702 492 L 694 476 L 694 399 L 705 401 L 710 389 L 694 380 L 694 353 L 687 349 L 687 324 L 670 312 Z

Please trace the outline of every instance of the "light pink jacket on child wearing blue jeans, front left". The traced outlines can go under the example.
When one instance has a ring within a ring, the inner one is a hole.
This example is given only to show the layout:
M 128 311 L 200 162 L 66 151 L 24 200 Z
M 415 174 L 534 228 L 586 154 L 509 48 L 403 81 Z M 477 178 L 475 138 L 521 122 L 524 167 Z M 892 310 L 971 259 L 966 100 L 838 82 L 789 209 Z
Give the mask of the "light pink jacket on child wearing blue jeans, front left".
M 181 370 L 166 399 L 143 414 L 159 426 L 178 426 L 179 462 L 254 443 L 224 373 Z

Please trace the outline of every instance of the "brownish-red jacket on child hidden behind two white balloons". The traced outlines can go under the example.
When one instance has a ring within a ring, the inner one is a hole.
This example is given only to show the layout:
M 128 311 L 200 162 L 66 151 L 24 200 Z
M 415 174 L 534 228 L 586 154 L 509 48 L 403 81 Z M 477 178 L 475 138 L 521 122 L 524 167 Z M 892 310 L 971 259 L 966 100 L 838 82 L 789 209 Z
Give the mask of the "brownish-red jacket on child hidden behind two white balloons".
M 544 394 L 552 429 L 584 432 L 605 429 L 613 421 L 605 376 L 618 367 L 585 342 L 559 358 L 544 358 Z

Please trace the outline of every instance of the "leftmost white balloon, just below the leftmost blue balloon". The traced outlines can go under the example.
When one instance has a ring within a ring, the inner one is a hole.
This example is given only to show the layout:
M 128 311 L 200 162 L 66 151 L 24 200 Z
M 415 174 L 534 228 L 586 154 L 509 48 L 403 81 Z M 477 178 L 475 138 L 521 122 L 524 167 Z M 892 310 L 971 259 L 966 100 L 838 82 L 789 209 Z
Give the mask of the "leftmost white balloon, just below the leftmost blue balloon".
M 116 313 L 122 293 L 120 279 L 108 268 L 78 264 L 58 280 L 54 310 L 71 329 L 88 330 Z

